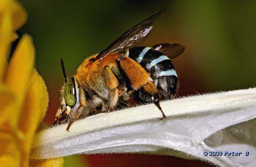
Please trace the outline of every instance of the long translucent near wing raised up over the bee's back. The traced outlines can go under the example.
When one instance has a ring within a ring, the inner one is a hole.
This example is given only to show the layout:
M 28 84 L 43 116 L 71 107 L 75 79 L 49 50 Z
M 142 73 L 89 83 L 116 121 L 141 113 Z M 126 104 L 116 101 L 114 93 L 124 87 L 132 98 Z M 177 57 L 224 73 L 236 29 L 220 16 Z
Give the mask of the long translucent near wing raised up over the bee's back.
M 132 46 L 137 46 L 148 37 L 152 30 L 153 22 L 159 17 L 165 9 L 156 12 L 152 16 L 144 19 L 142 22 L 127 30 L 123 35 L 112 42 L 106 49 L 101 51 L 95 59 L 104 59 L 108 54 L 116 51 L 122 51 Z

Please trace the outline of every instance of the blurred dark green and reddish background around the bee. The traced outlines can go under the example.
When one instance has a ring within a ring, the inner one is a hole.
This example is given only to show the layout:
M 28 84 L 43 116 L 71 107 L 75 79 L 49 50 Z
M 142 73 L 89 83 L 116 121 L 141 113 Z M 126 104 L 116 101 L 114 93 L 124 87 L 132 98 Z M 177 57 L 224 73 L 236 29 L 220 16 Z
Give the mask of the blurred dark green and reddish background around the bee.
M 180 77 L 179 95 L 255 85 L 256 1 L 20 2 L 28 12 L 28 21 L 18 34 L 27 33 L 34 39 L 36 68 L 44 78 L 50 96 L 45 119 L 49 124 L 54 121 L 63 82 L 60 58 L 63 57 L 67 74 L 72 76 L 86 57 L 100 52 L 124 31 L 164 8 L 167 11 L 156 21 L 143 45 L 169 42 L 185 46 L 184 54 L 174 59 Z M 69 159 L 79 162 L 79 158 Z M 139 165 L 142 159 L 144 165 L 157 162 L 168 166 L 177 161 L 192 164 L 170 157 L 114 155 L 88 156 L 80 165 L 118 164 L 109 160 L 111 158 L 113 161 L 119 159 L 126 166 Z

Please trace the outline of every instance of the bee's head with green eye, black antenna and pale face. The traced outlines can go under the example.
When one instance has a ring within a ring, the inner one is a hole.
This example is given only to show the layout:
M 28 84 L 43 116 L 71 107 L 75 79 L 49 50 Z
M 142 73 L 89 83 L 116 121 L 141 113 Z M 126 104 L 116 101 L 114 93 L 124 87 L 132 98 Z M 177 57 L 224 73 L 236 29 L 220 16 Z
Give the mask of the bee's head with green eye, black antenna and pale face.
M 63 72 L 63 76 L 65 78 L 65 84 L 62 86 L 61 91 L 61 104 L 59 109 L 57 110 L 55 116 L 55 125 L 60 125 L 63 123 L 67 123 L 69 121 L 69 113 L 72 107 L 77 103 L 78 97 L 76 97 L 77 86 L 75 83 L 75 78 L 67 78 L 66 71 L 63 63 L 63 59 L 61 58 L 61 68 Z

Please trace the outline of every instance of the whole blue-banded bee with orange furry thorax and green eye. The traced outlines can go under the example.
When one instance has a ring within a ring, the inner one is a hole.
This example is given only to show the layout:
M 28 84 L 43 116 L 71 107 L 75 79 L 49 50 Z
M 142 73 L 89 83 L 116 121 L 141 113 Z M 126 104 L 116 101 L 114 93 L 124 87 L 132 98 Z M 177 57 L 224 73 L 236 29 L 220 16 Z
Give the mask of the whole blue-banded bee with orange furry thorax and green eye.
M 165 118 L 159 101 L 176 95 L 178 76 L 171 58 L 182 54 L 184 46 L 138 46 L 162 12 L 144 19 L 99 54 L 86 58 L 71 79 L 67 79 L 61 59 L 65 84 L 54 125 L 68 123 L 69 130 L 85 106 L 109 112 L 127 106 L 131 98 L 140 103 L 155 103 Z

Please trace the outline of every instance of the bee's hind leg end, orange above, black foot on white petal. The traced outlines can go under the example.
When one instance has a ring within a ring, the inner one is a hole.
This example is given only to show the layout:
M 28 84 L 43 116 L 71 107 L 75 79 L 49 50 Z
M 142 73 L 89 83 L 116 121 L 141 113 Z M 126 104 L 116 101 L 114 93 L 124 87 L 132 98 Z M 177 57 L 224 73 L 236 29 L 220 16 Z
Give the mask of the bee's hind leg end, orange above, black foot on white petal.
M 166 116 L 159 104 L 159 94 L 158 94 L 158 90 L 157 90 L 155 84 L 153 84 L 153 82 L 148 82 L 143 86 L 143 89 L 145 92 L 147 92 L 151 95 L 151 102 L 155 103 L 157 108 L 162 112 L 163 118 L 166 118 Z M 163 119 L 163 118 L 159 118 L 159 119 Z

